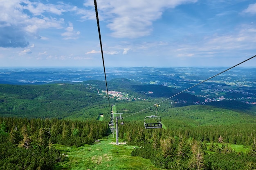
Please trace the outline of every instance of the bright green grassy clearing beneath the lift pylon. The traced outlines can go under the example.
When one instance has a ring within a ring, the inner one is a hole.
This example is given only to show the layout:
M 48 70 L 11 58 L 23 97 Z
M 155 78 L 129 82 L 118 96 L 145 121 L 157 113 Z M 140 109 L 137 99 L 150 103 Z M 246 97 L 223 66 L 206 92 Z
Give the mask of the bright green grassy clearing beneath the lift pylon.
M 110 144 L 115 143 L 111 135 L 100 141 L 81 147 L 54 145 L 61 154 L 67 155 L 55 170 L 160 170 L 149 159 L 130 156 L 134 146 Z

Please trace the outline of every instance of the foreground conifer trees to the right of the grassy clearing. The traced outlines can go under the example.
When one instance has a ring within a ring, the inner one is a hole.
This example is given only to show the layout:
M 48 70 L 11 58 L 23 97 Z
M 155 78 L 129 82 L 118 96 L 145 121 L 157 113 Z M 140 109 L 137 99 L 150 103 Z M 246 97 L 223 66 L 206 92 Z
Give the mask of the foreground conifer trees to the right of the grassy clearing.
M 249 151 L 236 152 L 224 137 L 208 143 L 191 134 L 173 135 L 173 129 L 144 129 L 141 122 L 125 122 L 119 137 L 140 146 L 131 155 L 150 159 L 155 166 L 177 170 L 247 170 L 256 168 L 255 137 L 247 143 Z M 225 131 L 223 127 L 222 132 Z M 220 133 L 221 134 L 221 133 Z M 244 141 L 245 142 L 245 141 Z M 245 142 L 246 143 L 246 142 Z

